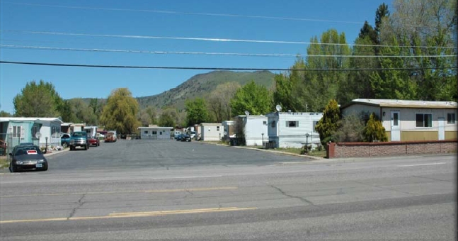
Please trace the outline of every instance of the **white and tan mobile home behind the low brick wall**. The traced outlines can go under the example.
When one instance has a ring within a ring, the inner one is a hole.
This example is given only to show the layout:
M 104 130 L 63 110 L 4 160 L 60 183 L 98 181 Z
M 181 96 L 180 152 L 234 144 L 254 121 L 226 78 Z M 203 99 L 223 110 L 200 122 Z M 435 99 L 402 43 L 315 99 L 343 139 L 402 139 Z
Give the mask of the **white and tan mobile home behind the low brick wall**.
M 457 102 L 354 99 L 342 106 L 343 116 L 375 113 L 391 141 L 456 140 Z

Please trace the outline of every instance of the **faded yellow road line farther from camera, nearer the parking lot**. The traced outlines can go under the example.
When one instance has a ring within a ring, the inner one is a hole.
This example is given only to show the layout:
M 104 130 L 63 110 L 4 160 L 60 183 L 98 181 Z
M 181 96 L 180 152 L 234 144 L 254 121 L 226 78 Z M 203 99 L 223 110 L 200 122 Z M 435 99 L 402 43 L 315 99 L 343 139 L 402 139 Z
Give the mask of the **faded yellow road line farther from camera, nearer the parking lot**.
M 13 198 L 21 196 L 65 196 L 65 195 L 91 195 L 91 194 L 132 194 L 132 193 L 169 193 L 181 191 L 219 191 L 219 190 L 234 190 L 238 189 L 236 186 L 221 186 L 221 187 L 207 187 L 195 189 L 157 189 L 157 190 L 143 190 L 143 191 L 88 191 L 80 193 L 57 193 L 57 194 L 19 194 L 19 195 L 5 195 L 0 198 Z

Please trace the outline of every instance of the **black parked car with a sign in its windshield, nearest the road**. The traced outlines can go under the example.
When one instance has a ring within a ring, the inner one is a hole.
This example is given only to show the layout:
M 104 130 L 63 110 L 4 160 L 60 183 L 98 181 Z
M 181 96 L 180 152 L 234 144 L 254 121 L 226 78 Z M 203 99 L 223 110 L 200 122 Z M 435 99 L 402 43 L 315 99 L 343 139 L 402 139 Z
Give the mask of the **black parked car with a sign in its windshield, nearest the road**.
M 16 145 L 9 155 L 10 172 L 47 170 L 47 160 L 37 145 Z

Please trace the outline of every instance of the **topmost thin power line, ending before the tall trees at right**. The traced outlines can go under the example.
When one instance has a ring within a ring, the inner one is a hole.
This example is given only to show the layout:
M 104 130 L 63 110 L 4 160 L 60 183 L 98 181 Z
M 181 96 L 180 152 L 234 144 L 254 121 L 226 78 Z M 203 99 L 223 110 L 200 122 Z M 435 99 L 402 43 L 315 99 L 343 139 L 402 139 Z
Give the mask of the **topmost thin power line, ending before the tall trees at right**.
M 231 17 L 231 18 L 261 18 L 261 19 L 274 19 L 274 20 L 286 20 L 286 21 L 312 21 L 312 22 L 328 22 L 328 23 L 364 24 L 363 22 L 356 22 L 356 21 L 334 21 L 334 20 L 316 19 L 316 18 L 290 18 L 290 17 L 227 14 L 227 13 L 195 13 L 195 12 L 149 10 L 149 9 L 95 8 L 95 7 L 85 7 L 85 6 L 29 4 L 29 3 L 13 3 L 13 2 L 5 2 L 5 3 L 6 4 L 16 4 L 16 5 L 25 5 L 25 6 L 47 6 L 47 7 L 65 8 L 65 9 L 89 9 L 89 10 L 130 11 L 130 12 L 133 11 L 133 12 L 145 12 L 145 13 L 166 13 L 166 14 L 181 14 L 181 15 L 196 15 L 196 16 L 219 16 L 219 17 Z

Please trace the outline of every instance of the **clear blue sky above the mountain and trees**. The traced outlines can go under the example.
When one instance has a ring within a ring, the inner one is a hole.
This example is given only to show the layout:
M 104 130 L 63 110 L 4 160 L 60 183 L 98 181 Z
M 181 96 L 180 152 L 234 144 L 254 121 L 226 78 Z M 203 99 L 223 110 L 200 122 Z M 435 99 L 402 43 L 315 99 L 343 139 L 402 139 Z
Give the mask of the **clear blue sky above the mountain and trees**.
M 0 61 L 287 69 L 326 30 L 354 43 L 383 3 L 392 11 L 391 0 L 0 0 Z M 161 94 L 210 71 L 0 63 L 0 110 L 14 113 L 13 98 L 41 79 L 63 99 L 101 99 Z

